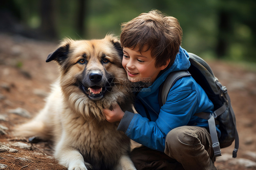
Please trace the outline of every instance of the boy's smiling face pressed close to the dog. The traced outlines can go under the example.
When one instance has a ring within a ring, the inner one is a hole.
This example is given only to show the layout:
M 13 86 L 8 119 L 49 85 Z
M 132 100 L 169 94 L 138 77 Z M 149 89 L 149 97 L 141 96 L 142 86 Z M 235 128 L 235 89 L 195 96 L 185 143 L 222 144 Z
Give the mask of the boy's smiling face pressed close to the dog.
M 123 52 L 122 65 L 131 82 L 150 80 L 152 84 L 156 80 L 162 67 L 155 67 L 155 59 L 152 58 L 150 49 L 140 53 L 137 48 L 124 47 Z

